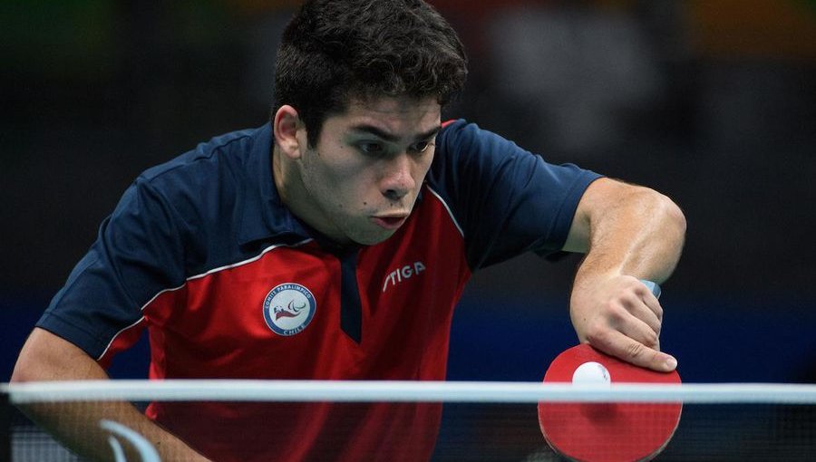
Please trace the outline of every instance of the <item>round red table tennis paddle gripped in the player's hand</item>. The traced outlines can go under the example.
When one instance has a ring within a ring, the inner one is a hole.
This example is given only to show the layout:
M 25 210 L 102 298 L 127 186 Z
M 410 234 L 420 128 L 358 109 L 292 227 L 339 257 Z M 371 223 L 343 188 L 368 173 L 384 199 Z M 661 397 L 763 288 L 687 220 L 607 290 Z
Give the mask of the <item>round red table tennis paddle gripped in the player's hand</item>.
M 649 284 L 659 296 L 659 286 Z M 544 381 L 677 384 L 680 375 L 644 369 L 582 344 L 559 354 Z M 674 435 L 682 409 L 679 402 L 540 402 L 539 426 L 550 448 L 570 460 L 650 460 Z

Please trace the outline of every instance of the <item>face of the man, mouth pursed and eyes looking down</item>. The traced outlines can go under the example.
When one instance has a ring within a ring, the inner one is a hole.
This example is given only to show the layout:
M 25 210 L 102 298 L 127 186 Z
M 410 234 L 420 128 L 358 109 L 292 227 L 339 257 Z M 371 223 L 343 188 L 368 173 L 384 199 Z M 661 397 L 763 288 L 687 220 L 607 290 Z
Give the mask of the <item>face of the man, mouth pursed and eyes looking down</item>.
M 339 243 L 374 245 L 392 236 L 413 209 L 431 168 L 440 129 L 433 98 L 352 100 L 328 117 L 306 149 L 300 178 L 309 225 Z M 305 138 L 305 136 L 304 136 Z

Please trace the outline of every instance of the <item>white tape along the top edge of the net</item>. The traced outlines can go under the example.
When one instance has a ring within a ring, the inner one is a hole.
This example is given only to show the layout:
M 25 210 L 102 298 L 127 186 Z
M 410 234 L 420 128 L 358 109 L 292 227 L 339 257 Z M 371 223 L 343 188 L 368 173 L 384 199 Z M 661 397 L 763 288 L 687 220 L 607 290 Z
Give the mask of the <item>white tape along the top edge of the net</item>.
M 816 404 L 816 385 L 573 385 L 390 380 L 88 380 L 3 384 L 12 404 L 41 401 L 684 402 Z

